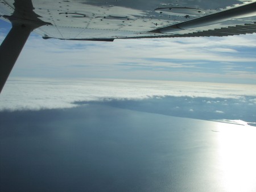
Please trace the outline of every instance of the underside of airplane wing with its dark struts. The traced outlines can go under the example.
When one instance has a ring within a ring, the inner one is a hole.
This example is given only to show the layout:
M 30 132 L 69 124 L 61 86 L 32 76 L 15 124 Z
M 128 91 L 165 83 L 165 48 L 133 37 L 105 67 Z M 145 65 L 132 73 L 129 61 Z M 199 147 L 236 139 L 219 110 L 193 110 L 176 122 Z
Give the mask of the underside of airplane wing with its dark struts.
M 0 91 L 34 30 L 43 39 L 113 41 L 256 32 L 256 0 L 0 0 L 12 28 L 0 47 Z

